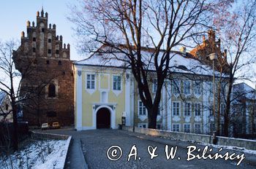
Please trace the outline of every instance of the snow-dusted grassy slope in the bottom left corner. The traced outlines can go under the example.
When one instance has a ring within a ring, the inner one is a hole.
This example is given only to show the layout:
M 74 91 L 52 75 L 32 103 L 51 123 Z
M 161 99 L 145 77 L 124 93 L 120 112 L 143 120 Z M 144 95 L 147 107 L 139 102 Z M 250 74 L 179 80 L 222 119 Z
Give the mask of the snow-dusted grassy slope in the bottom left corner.
M 0 168 L 63 168 L 67 154 L 66 140 L 34 141 L 20 152 L 0 159 Z

